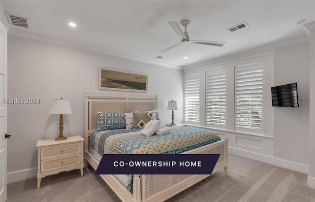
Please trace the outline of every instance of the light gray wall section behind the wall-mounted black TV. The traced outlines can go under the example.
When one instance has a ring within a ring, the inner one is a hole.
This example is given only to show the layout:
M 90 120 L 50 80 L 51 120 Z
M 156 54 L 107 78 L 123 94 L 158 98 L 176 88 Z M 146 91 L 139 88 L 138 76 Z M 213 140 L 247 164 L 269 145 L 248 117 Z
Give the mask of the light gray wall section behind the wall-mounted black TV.
M 274 51 L 274 85 L 297 82 L 298 96 L 305 98 L 299 108 L 274 107 L 274 157 L 305 165 L 309 165 L 309 52 L 309 42 Z

